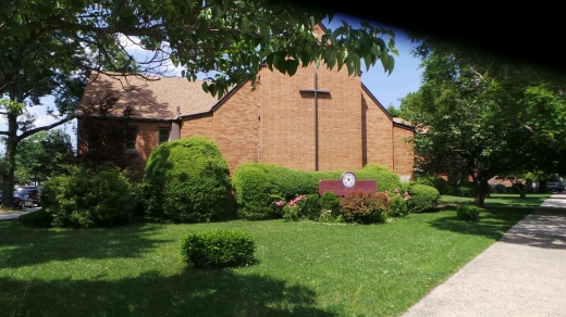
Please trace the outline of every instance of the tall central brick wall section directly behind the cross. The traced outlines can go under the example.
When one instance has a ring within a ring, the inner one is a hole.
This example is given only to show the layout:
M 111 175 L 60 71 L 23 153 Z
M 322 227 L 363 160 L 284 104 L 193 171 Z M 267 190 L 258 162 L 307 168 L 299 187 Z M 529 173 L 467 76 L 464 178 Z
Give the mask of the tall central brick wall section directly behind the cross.
M 359 77 L 347 71 L 317 69 L 319 169 L 359 168 L 361 110 Z M 290 77 L 263 68 L 260 89 L 260 161 L 296 169 L 315 169 L 313 66 Z

